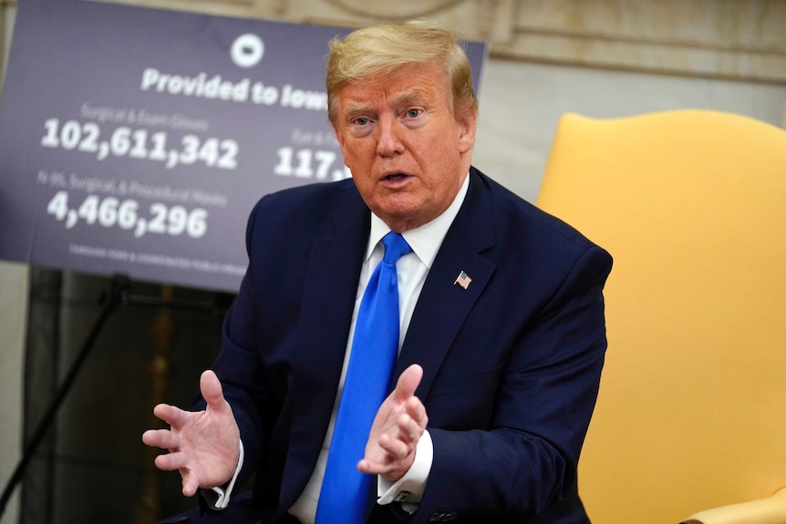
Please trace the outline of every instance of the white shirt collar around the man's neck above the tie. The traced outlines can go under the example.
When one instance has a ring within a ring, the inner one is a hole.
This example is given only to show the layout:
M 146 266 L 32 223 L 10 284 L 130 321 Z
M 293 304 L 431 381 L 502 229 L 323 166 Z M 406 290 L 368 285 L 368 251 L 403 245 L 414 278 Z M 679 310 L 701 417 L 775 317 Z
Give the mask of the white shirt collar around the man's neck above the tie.
M 414 230 L 404 231 L 402 233 L 404 240 L 406 240 L 407 243 L 409 243 L 409 247 L 412 248 L 412 252 L 418 255 L 420 262 L 423 262 L 429 269 L 431 269 L 431 263 L 437 258 L 437 252 L 440 251 L 442 241 L 445 239 L 445 235 L 448 234 L 450 224 L 453 223 L 456 215 L 459 214 L 461 204 L 464 202 L 464 197 L 467 196 L 469 187 L 470 176 L 468 174 L 464 177 L 464 182 L 461 184 L 459 192 L 456 193 L 456 197 L 450 203 L 447 210 L 443 211 L 442 214 L 433 221 L 423 224 Z M 388 232 L 390 232 L 388 224 L 382 221 L 382 219 L 377 217 L 374 213 L 371 213 L 371 233 L 368 236 L 366 261 L 371 257 L 371 253 L 374 252 L 377 243 L 379 243 L 382 237 L 387 235 Z

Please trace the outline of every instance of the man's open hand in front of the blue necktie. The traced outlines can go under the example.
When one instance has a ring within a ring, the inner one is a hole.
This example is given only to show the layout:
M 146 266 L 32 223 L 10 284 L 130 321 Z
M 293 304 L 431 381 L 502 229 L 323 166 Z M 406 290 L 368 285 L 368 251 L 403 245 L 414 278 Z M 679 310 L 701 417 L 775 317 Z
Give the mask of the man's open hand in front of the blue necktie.
M 417 364 L 398 377 L 396 388 L 377 410 L 366 456 L 357 463 L 357 469 L 395 482 L 412 466 L 418 441 L 429 423 L 426 407 L 415 396 L 422 377 L 423 368 Z

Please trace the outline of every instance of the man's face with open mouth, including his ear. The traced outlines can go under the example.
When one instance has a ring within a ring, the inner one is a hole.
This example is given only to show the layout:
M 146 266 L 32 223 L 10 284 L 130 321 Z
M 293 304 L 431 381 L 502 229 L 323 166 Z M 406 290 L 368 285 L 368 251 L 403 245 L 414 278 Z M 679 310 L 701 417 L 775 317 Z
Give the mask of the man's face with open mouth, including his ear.
M 454 117 L 439 65 L 347 84 L 337 102 L 336 137 L 371 211 L 400 232 L 448 209 L 470 169 L 477 118 Z

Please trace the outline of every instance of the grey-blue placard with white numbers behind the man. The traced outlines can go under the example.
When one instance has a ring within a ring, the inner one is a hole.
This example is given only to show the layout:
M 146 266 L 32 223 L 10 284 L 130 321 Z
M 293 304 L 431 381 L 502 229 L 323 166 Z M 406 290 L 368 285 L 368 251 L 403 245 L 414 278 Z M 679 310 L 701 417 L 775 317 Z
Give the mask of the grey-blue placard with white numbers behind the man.
M 0 258 L 236 291 L 265 193 L 346 178 L 327 42 L 348 30 L 25 0 L 0 101 Z M 486 46 L 467 44 L 475 88 Z

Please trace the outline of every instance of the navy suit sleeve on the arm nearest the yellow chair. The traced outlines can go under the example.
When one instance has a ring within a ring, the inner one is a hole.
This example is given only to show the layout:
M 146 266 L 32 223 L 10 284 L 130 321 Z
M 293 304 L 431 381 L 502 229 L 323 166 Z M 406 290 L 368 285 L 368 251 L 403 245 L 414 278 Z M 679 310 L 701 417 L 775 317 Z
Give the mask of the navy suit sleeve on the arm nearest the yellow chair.
M 609 264 L 605 252 L 588 249 L 538 315 L 519 321 L 502 365 L 468 376 L 465 394 L 431 393 L 434 462 L 421 511 L 491 522 L 533 516 L 569 494 L 604 363 Z M 517 324 L 513 315 L 509 322 Z M 467 395 L 493 396 L 477 407 L 488 410 L 486 427 L 457 430 L 442 421 L 441 403 L 459 405 Z

